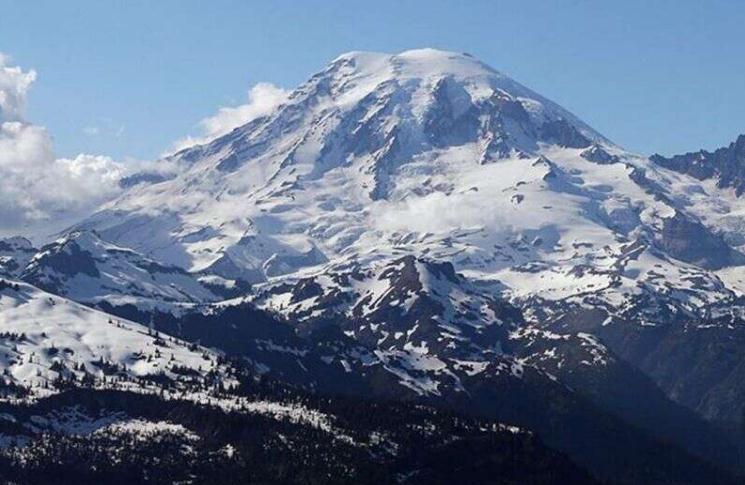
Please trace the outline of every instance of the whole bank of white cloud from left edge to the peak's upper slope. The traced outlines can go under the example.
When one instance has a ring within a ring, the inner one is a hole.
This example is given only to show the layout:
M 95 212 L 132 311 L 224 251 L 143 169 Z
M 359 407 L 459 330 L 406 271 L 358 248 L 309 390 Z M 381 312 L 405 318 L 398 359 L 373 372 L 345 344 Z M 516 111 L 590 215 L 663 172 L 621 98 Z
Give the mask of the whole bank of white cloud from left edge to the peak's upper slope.
M 104 155 L 58 158 L 47 129 L 25 116 L 36 77 L 34 70 L 15 66 L 0 53 L 0 237 L 20 234 L 42 241 L 111 201 L 125 190 L 122 187 L 151 180 L 147 175 L 178 172 L 179 167 L 167 160 L 124 165 Z M 206 143 L 267 115 L 288 94 L 273 84 L 258 83 L 248 91 L 245 104 L 220 108 L 200 121 L 199 134 L 177 141 L 174 151 Z M 101 129 L 89 126 L 83 134 L 98 136 Z

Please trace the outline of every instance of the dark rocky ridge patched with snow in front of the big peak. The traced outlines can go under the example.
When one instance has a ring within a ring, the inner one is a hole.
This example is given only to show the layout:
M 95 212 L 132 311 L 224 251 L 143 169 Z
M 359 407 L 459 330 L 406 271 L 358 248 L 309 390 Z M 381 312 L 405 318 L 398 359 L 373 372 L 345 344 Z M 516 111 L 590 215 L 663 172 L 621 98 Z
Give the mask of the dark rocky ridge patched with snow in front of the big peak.
M 380 267 L 328 268 L 294 284 L 285 280 L 254 302 L 285 315 L 311 340 L 329 324 L 340 329 L 354 342 L 351 348 L 339 339 L 293 349 L 295 355 L 318 353 L 350 376 L 382 365 L 394 382 L 420 396 L 457 402 L 454 395 L 467 395 L 469 405 L 484 399 L 479 387 L 485 382 L 501 389 L 505 401 L 515 387 L 545 389 L 546 381 L 558 380 L 665 440 L 713 461 L 729 456 L 722 437 L 601 339 L 581 327 L 526 322 L 518 308 L 455 273 L 450 263 L 404 256 Z M 262 354 L 253 355 L 261 361 Z M 646 396 L 643 404 L 639 395 Z

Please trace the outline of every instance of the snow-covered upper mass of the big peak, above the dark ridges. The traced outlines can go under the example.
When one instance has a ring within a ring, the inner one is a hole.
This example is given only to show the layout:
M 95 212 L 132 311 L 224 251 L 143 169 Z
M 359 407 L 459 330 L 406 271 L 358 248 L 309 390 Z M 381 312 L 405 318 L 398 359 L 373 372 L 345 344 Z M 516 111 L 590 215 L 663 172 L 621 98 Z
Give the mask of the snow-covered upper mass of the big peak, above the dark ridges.
M 665 292 L 659 266 L 673 298 L 723 301 L 707 270 L 743 261 L 676 203 L 685 180 L 467 55 L 341 56 L 274 113 L 176 157 L 174 179 L 80 227 L 228 278 L 408 252 L 549 300 Z

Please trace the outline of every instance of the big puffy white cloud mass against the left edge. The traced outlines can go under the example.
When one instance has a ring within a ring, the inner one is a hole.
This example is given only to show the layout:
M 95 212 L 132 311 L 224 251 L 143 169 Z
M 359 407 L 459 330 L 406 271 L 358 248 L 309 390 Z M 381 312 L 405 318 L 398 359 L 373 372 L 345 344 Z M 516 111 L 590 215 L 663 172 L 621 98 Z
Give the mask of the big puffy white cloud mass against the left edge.
M 34 71 L 0 54 L 0 233 L 48 235 L 121 190 L 124 166 L 109 157 L 57 158 L 44 127 L 24 119 Z

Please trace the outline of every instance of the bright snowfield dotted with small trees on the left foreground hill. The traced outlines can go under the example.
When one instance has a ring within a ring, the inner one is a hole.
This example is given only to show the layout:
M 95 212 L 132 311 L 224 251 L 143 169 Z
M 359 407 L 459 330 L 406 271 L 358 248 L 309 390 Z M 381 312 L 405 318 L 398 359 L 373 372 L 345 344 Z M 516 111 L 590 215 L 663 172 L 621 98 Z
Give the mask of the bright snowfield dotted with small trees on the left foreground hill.
M 65 382 L 189 388 L 209 372 L 230 382 L 218 354 L 25 283 L 0 286 L 0 327 L 5 398 L 48 395 Z

